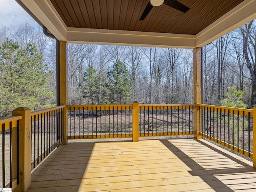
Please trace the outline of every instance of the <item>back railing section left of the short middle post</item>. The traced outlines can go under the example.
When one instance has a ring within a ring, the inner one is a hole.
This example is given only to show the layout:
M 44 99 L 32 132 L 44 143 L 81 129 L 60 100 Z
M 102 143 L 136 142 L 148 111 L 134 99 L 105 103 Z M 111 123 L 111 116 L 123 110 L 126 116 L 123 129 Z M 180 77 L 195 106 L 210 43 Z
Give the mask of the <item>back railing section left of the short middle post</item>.
M 132 137 L 133 105 L 69 105 L 68 139 Z

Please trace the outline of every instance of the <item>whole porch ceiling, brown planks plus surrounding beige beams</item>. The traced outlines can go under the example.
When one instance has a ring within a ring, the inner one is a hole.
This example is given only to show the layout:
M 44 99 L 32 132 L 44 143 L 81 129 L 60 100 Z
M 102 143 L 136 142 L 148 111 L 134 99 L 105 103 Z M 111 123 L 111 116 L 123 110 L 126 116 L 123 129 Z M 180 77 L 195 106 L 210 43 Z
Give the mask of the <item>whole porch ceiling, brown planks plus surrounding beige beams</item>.
M 256 0 L 179 0 L 139 18 L 149 0 L 16 0 L 58 38 L 70 43 L 194 48 L 256 18 Z

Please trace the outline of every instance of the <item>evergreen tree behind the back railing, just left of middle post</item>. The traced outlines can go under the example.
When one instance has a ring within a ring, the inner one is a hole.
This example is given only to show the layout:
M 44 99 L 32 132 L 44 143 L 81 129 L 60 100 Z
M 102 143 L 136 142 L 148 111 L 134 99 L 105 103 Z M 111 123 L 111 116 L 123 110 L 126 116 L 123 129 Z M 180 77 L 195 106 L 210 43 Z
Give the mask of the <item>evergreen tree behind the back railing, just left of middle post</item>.
M 113 104 L 126 104 L 132 95 L 132 79 L 126 66 L 118 61 L 108 73 Z

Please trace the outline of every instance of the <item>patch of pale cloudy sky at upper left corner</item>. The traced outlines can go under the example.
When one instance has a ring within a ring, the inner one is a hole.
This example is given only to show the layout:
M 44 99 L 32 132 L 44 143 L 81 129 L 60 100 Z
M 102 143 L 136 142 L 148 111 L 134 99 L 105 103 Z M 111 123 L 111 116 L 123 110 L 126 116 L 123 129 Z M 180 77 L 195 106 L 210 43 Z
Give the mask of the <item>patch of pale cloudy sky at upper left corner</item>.
M 0 26 L 20 26 L 26 22 L 34 28 L 39 26 L 15 0 L 0 0 L 0 10 Z

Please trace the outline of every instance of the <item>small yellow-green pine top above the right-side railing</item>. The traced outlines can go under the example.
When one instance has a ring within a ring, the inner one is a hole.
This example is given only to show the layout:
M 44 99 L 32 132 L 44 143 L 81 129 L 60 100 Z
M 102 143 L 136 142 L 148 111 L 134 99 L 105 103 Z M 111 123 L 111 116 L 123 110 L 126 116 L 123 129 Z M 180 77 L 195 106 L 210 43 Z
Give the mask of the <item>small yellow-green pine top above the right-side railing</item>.
M 243 92 L 237 91 L 236 88 L 230 87 L 227 97 L 220 103 L 222 106 L 236 107 L 236 108 L 246 108 L 247 105 L 242 102 Z

